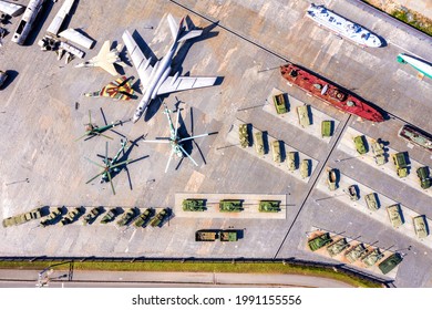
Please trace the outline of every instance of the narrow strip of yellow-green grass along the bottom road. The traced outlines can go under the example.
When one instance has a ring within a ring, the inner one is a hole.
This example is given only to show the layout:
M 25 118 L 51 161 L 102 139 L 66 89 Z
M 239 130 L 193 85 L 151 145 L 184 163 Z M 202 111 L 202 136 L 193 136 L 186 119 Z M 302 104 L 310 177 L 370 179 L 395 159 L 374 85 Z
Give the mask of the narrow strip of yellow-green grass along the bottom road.
M 0 261 L 0 269 L 32 269 L 42 270 L 56 261 L 14 262 Z M 54 267 L 56 270 L 68 270 L 69 265 Z M 105 271 L 165 271 L 165 272 L 235 272 L 235 273 L 275 273 L 304 275 L 339 280 L 353 287 L 381 288 L 382 285 L 354 276 L 336 272 L 331 268 L 306 267 L 277 262 L 109 262 L 109 261 L 75 261 L 74 270 L 105 270 Z

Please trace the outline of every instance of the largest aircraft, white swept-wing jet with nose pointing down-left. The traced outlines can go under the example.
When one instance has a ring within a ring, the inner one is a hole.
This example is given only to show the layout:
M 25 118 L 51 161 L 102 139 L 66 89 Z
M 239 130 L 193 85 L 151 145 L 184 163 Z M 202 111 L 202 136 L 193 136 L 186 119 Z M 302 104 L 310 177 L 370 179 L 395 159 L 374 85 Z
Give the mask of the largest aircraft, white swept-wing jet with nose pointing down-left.
M 145 113 L 151 101 L 158 95 L 213 86 L 216 83 L 217 78 L 178 76 L 178 71 L 175 72 L 173 76 L 169 75 L 172 73 L 171 64 L 179 43 L 199 37 L 203 33 L 203 30 L 187 30 L 184 21 L 185 19 L 183 18 L 177 27 L 172 14 L 168 14 L 168 23 L 174 42 L 171 45 L 168 53 L 154 64 L 152 64 L 152 62 L 155 60 L 153 60 L 152 56 L 146 58 L 144 55 L 127 30 L 124 31 L 122 35 L 124 44 L 132 58 L 132 62 L 138 72 L 144 90 L 143 99 L 133 117 L 134 123 L 136 123 Z

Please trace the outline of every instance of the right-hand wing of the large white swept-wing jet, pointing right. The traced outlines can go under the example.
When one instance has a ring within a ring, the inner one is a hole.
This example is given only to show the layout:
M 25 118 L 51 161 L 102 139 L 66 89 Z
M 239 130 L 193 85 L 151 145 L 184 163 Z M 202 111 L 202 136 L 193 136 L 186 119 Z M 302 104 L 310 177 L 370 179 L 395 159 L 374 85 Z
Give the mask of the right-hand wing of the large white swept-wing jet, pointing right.
M 213 86 L 216 83 L 216 79 L 217 78 L 178 76 L 174 80 L 173 76 L 168 76 L 157 90 L 157 94 L 163 95 L 179 91 Z

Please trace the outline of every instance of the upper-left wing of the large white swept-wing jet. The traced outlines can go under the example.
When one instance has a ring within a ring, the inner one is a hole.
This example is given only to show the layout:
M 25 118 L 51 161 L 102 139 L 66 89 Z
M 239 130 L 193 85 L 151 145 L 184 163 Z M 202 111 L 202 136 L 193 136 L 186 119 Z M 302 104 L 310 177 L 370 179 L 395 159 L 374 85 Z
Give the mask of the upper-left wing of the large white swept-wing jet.
M 153 65 L 150 63 L 152 59 L 145 58 L 143 51 L 136 44 L 136 41 L 132 38 L 131 33 L 127 30 L 124 31 L 122 39 L 124 44 L 126 45 L 128 54 L 132 58 L 132 62 L 135 69 L 138 72 L 141 84 L 145 86 L 146 83 L 148 83 L 150 75 L 153 71 Z

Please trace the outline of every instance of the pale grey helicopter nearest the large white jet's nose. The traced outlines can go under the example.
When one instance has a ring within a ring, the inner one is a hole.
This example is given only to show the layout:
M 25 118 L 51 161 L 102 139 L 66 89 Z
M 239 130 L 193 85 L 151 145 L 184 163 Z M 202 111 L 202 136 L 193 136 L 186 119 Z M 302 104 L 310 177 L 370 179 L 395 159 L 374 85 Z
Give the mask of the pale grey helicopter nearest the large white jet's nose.
M 168 124 L 169 124 L 169 137 L 156 137 L 156 140 L 145 140 L 144 142 L 148 142 L 148 143 L 169 143 L 172 149 L 171 149 L 168 162 L 166 163 L 165 173 L 168 170 L 169 163 L 171 163 L 174 154 L 177 155 L 179 158 L 183 158 L 186 155 L 195 166 L 198 166 L 198 164 L 194 161 L 194 158 L 192 158 L 192 156 L 189 154 L 187 154 L 187 152 L 182 146 L 182 144 L 185 141 L 194 140 L 194 138 L 197 138 L 197 137 L 208 136 L 210 134 L 209 133 L 205 133 L 205 134 L 200 134 L 200 135 L 188 136 L 188 137 L 183 137 L 182 138 L 178 135 L 178 117 L 179 117 L 181 108 L 177 107 L 177 120 L 176 120 L 175 126 L 174 126 L 173 125 L 173 121 L 171 120 L 171 116 L 169 116 L 172 111 L 168 110 L 168 107 L 166 106 L 165 103 L 163 103 L 163 104 L 164 104 L 164 114 L 166 114 L 166 118 L 168 120 Z

